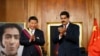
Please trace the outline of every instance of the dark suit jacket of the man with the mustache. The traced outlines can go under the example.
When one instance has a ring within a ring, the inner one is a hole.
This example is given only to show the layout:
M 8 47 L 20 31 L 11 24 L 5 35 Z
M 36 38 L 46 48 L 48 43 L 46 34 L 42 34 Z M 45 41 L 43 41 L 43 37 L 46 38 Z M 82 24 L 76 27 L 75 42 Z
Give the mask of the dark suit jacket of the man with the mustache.
M 62 27 L 62 25 L 60 26 Z M 79 50 L 79 26 L 70 23 L 66 35 L 59 40 L 59 32 L 55 30 L 54 43 L 59 43 L 58 56 L 80 56 Z

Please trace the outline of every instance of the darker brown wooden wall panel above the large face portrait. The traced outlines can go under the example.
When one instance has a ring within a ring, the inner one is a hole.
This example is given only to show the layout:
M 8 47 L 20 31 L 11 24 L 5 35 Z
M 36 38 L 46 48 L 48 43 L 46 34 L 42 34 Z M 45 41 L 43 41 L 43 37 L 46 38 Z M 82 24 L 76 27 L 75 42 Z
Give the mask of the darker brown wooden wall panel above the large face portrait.
M 24 0 L 6 0 L 6 21 L 24 22 L 27 12 Z

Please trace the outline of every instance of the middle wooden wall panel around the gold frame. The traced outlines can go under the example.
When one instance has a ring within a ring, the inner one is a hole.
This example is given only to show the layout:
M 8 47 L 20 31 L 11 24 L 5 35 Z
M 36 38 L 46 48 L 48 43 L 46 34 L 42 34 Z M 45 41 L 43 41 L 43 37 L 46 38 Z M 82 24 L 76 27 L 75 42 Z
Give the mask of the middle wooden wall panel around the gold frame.
M 87 46 L 88 38 L 88 19 L 86 16 L 86 1 L 85 0 L 43 0 L 42 1 L 42 29 L 45 34 L 46 25 L 48 22 L 60 22 L 59 14 L 61 11 L 69 11 L 71 15 L 71 22 L 82 22 L 83 24 L 83 38 L 82 46 Z M 45 36 L 48 39 L 47 36 Z M 46 40 L 47 42 L 48 40 Z M 45 46 L 48 45 L 48 42 Z

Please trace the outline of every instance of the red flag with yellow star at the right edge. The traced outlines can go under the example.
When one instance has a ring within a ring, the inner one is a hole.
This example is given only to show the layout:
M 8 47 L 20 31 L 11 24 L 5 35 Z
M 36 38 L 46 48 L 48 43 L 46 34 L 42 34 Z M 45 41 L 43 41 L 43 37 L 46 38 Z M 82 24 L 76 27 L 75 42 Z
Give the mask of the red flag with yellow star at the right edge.
M 94 19 L 92 35 L 88 45 L 88 56 L 100 56 L 100 29 L 96 19 Z

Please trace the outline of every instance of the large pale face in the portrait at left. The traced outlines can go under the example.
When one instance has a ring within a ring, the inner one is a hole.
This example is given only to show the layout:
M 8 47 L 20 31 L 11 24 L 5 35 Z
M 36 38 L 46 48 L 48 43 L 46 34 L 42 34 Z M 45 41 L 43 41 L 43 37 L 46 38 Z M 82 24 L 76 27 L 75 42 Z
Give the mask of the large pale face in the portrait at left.
M 19 47 L 20 34 L 16 28 L 7 28 L 4 31 L 2 44 L 7 55 L 14 55 L 17 53 Z

